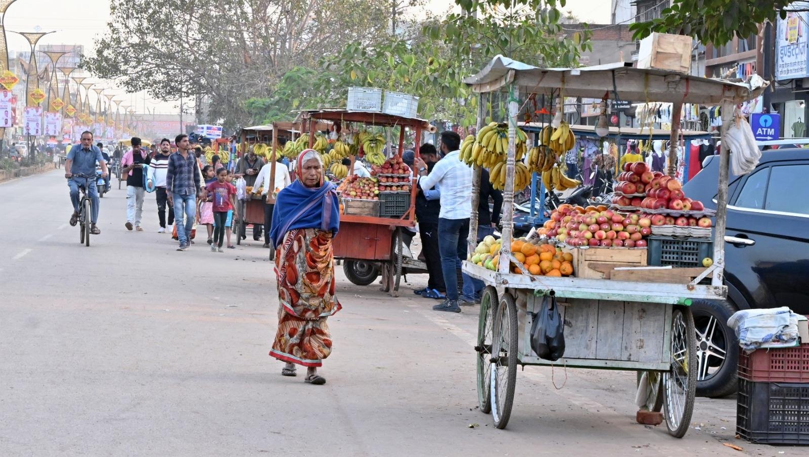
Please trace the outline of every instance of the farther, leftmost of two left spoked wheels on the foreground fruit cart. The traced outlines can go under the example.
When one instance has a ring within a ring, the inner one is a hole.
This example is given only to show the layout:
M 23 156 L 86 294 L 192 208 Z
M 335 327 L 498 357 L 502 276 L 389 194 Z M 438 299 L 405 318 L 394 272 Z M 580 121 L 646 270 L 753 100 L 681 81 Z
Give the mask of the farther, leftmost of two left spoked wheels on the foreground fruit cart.
M 494 312 L 498 308 L 498 291 L 486 286 L 481 294 L 481 312 L 477 319 L 477 405 L 483 413 L 492 412 L 491 371 Z

